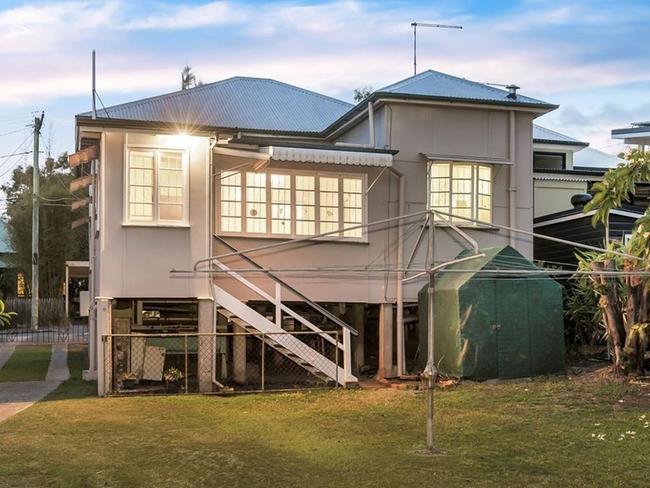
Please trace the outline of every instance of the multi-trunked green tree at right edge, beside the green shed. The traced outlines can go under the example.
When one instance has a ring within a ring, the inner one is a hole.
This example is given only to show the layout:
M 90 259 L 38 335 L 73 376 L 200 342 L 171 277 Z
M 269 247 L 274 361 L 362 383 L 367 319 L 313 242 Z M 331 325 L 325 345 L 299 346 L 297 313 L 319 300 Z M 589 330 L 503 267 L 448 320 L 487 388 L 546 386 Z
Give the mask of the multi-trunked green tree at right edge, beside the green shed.
M 630 201 L 638 183 L 650 182 L 650 153 L 634 149 L 625 156 L 627 163 L 610 169 L 593 186 L 594 197 L 585 212 L 595 210 L 594 225 L 602 222 L 607 228 L 610 212 Z M 650 334 L 650 278 L 642 274 L 650 272 L 650 208 L 637 221 L 629 242 L 607 246 L 610 252 L 588 255 L 581 269 L 593 272 L 615 370 L 641 373 Z

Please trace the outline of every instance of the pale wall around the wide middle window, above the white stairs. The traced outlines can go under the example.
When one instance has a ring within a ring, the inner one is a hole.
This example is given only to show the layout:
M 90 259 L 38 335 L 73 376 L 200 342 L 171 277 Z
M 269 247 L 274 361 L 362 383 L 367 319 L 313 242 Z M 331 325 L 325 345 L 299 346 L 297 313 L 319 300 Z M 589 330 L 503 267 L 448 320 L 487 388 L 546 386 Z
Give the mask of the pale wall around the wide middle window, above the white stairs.
M 215 173 L 219 169 L 231 168 L 234 165 L 223 156 L 215 155 Z M 333 172 L 363 174 L 366 186 L 380 173 L 381 168 L 362 167 L 344 164 L 313 164 L 287 163 L 272 161 L 269 171 L 273 169 L 293 169 L 303 171 Z M 218 198 L 218 180 L 215 196 Z M 397 215 L 397 179 L 385 173 L 372 187 L 367 196 L 367 221 L 385 219 Z M 389 197 L 390 194 L 390 197 Z M 218 199 L 217 199 L 218 203 Z M 218 205 L 215 208 L 215 225 L 219 218 Z M 394 234 L 394 235 L 393 235 Z M 280 246 L 266 251 L 251 253 L 250 257 L 260 265 L 272 268 L 300 268 L 315 266 L 394 266 L 396 254 L 394 239 L 383 226 L 370 229 L 367 233 L 367 243 L 350 241 L 332 241 L 314 239 Z M 239 250 L 254 248 L 266 244 L 278 243 L 283 238 L 258 238 L 243 236 L 223 236 L 231 245 Z M 214 255 L 227 253 L 228 249 L 217 240 L 214 242 Z M 231 257 L 222 260 L 232 269 L 250 268 L 241 258 Z M 274 283 L 258 273 L 245 273 L 243 276 L 261 287 L 265 292 L 274 295 Z M 387 278 L 382 273 L 368 276 L 366 273 L 280 273 L 280 278 L 294 286 L 309 298 L 319 302 L 357 302 L 382 303 L 395 300 L 395 279 Z M 262 298 L 237 280 L 224 274 L 215 275 L 215 283 L 241 300 L 262 300 Z M 283 295 L 282 300 L 298 300 L 289 294 Z

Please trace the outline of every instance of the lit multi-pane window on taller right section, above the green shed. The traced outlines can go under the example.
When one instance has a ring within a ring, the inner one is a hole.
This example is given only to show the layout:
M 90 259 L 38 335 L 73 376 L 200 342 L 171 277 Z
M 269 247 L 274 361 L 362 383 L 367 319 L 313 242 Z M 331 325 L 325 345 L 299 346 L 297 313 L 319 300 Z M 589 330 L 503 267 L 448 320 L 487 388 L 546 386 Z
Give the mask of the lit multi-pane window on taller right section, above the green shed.
M 492 166 L 431 161 L 429 207 L 458 217 L 492 223 Z M 453 220 L 471 224 L 462 218 Z

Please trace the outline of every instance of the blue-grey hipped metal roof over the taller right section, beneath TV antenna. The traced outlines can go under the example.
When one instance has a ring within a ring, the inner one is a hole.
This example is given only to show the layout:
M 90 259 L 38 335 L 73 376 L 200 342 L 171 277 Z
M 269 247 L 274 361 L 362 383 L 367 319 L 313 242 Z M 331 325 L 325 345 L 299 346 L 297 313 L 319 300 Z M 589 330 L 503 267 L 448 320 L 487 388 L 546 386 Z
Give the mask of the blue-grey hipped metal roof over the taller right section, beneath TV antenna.
M 405 80 L 398 81 L 397 83 L 377 90 L 377 93 L 517 106 L 556 107 L 555 105 L 520 94 L 517 94 L 516 98 L 509 98 L 509 93 L 506 90 L 433 70 L 424 71 Z

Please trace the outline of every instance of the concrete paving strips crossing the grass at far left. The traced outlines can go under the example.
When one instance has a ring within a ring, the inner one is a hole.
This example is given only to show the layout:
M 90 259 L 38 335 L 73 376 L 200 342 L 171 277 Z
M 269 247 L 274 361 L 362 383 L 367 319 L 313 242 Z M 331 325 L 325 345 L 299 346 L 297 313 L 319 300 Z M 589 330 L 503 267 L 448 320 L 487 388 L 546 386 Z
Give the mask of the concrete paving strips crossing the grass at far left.
M 11 349 L 11 352 L 7 352 Z M 0 367 L 13 353 L 13 346 L 0 348 Z M 6 357 L 5 357 L 6 356 Z M 0 383 L 0 422 L 42 400 L 70 377 L 68 345 L 53 344 L 50 366 L 45 381 L 15 381 Z

